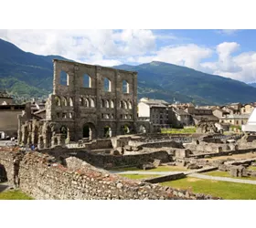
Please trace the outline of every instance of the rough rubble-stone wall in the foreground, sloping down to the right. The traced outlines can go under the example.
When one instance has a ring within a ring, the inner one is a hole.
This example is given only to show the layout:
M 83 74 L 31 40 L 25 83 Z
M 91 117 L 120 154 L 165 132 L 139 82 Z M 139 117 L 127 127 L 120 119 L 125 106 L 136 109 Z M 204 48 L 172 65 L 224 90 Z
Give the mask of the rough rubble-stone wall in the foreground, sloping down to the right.
M 12 172 L 12 159 L 16 154 L 16 151 L 0 151 L 0 163 L 5 163 L 7 172 Z M 67 166 L 56 163 L 46 154 L 28 152 L 19 162 L 18 187 L 44 200 L 212 199 L 203 194 L 129 180 L 91 167 L 77 158 L 67 159 Z

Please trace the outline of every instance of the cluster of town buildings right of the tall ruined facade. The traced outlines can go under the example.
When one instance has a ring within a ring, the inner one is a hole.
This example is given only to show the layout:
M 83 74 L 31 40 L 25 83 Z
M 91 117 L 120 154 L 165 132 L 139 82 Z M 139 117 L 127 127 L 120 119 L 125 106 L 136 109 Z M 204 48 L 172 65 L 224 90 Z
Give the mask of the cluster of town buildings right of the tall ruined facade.
M 247 123 L 255 107 L 256 102 L 198 107 L 192 103 L 169 104 L 161 99 L 141 98 L 138 103 L 138 118 L 151 122 L 155 132 L 165 128 L 198 126 L 202 122 L 212 123 L 219 131 L 240 132 L 241 126 Z M 204 131 L 202 128 L 198 130 Z

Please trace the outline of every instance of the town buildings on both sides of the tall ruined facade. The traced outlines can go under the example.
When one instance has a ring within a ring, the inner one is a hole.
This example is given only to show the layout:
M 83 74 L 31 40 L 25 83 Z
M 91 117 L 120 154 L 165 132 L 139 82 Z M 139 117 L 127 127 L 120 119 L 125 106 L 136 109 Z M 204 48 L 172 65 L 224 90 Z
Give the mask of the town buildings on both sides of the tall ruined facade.
M 0 139 L 17 136 L 18 115 L 29 112 L 31 119 L 45 119 L 45 105 L 45 100 L 35 99 L 21 105 L 15 104 L 14 98 L 5 90 L 0 92 Z M 150 126 L 150 132 L 198 127 L 200 123 L 212 124 L 218 132 L 241 132 L 242 125 L 247 123 L 255 107 L 256 102 L 198 107 L 192 103 L 175 101 L 170 104 L 163 99 L 141 98 L 138 102 L 137 117 L 138 121 Z M 145 133 L 146 129 L 148 130 L 143 127 L 141 132 Z M 197 132 L 206 133 L 208 130 L 197 128 Z

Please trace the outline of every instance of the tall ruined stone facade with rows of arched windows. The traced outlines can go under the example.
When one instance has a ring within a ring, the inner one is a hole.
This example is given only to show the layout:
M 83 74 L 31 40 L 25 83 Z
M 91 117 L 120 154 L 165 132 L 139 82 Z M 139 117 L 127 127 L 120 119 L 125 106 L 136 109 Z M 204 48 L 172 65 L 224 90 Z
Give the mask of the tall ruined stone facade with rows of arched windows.
M 19 117 L 19 143 L 39 149 L 137 131 L 137 73 L 53 60 L 46 119 Z

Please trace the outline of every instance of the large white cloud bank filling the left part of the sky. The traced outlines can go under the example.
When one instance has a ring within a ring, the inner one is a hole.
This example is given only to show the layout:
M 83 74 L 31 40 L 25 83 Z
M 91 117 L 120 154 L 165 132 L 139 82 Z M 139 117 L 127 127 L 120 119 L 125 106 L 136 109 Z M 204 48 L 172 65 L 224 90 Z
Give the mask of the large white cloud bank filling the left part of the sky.
M 155 49 L 151 30 L 0 30 L 0 38 L 37 55 L 90 63 L 104 60 L 102 63 L 116 64 Z

